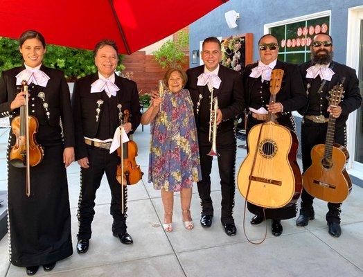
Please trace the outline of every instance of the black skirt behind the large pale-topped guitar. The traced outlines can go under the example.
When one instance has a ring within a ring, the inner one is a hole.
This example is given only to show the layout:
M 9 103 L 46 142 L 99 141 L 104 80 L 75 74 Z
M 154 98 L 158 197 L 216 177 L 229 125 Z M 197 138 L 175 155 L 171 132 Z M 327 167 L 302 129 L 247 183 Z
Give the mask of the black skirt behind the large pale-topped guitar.
M 277 119 L 278 124 L 283 125 L 292 129 L 296 132 L 295 120 L 292 115 L 285 115 L 281 116 L 281 118 Z M 261 120 L 257 120 L 253 118 L 251 114 L 249 114 L 247 118 L 247 127 L 246 127 L 246 134 L 248 136 L 249 130 L 254 127 L 254 125 L 263 123 Z M 256 206 L 247 202 L 248 211 L 253 213 L 254 215 L 259 215 L 263 217 L 263 207 Z M 287 204 L 287 206 L 283 206 L 282 208 L 265 208 L 265 216 L 266 219 L 272 220 L 287 220 L 289 218 L 295 217 L 297 212 L 297 203 Z

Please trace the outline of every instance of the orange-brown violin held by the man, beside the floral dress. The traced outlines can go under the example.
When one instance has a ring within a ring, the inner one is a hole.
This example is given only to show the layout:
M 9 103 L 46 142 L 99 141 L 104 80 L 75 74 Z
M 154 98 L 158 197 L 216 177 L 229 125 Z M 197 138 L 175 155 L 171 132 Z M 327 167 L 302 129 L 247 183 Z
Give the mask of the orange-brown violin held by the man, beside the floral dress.
M 125 109 L 123 111 L 123 124 L 129 122 L 130 111 Z M 122 148 L 122 149 L 121 149 Z M 143 172 L 141 172 L 140 166 L 136 164 L 135 157 L 137 156 L 137 144 L 130 139 L 126 143 L 122 143 L 121 147 L 117 149 L 117 155 L 122 159 L 117 166 L 116 179 L 120 184 L 123 183 L 121 180 L 121 168 L 123 167 L 123 178 L 127 185 L 137 184 L 143 177 Z M 122 157 L 122 158 L 121 158 Z M 123 185 L 126 185 L 123 184 Z

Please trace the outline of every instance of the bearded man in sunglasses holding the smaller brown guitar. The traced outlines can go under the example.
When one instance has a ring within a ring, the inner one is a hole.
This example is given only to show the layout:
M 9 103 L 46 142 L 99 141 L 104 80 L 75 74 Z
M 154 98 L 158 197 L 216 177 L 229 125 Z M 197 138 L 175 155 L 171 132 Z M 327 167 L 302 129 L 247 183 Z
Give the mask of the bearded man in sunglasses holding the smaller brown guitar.
M 309 102 L 303 107 L 301 114 L 301 152 L 303 156 L 303 171 L 311 165 L 310 151 L 319 144 L 325 143 L 329 113 L 336 118 L 334 142 L 346 146 L 346 120 L 348 115 L 358 109 L 362 96 L 358 87 L 355 70 L 333 61 L 333 39 L 328 34 L 315 35 L 310 46 L 311 61 L 301 64 L 300 71 L 306 85 Z M 328 107 L 328 91 L 344 79 L 344 98 L 337 107 Z M 320 119 L 320 120 L 319 120 Z M 312 201 L 314 197 L 303 189 L 301 193 L 300 215 L 296 220 L 297 226 L 306 226 L 315 217 Z M 328 232 L 339 238 L 341 203 L 328 203 Z

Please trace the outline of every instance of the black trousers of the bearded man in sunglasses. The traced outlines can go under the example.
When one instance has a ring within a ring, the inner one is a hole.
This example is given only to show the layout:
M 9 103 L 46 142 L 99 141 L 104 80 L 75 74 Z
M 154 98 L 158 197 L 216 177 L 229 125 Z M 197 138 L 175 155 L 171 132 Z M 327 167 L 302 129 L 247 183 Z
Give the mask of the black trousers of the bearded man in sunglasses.
M 326 130 L 328 123 L 314 123 L 306 118 L 301 123 L 301 154 L 303 155 L 303 172 L 311 166 L 310 152 L 312 148 L 326 141 Z M 334 142 L 346 146 L 346 126 L 335 126 Z M 301 215 L 314 216 L 312 202 L 314 197 L 309 195 L 303 189 L 301 193 Z M 328 203 L 328 213 L 326 213 L 327 222 L 340 223 L 340 212 L 342 203 Z

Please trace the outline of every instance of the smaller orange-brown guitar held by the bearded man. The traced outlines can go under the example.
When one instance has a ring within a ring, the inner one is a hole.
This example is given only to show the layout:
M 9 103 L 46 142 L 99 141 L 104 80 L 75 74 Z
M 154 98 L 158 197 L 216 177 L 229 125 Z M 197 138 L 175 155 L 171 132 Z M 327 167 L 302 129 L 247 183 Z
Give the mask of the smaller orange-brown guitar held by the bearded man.
M 336 107 L 342 100 L 343 84 L 335 84 L 329 93 L 329 105 Z M 312 165 L 303 173 L 303 188 L 313 197 L 326 202 L 341 203 L 351 193 L 352 181 L 346 172 L 348 150 L 334 143 L 334 133 L 335 118 L 330 114 L 326 143 L 312 148 Z

